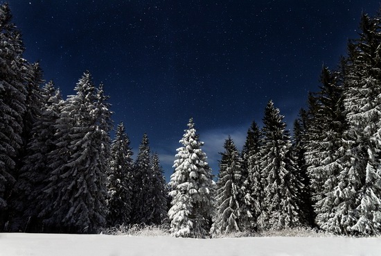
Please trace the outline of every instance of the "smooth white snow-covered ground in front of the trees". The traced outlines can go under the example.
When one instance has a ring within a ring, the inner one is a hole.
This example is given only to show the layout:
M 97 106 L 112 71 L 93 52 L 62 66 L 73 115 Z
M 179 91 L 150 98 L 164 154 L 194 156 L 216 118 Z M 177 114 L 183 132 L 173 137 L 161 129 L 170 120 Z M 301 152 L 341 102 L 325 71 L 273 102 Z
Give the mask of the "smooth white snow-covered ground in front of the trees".
M 376 256 L 381 238 L 247 237 L 184 239 L 106 234 L 0 233 L 1 256 Z

